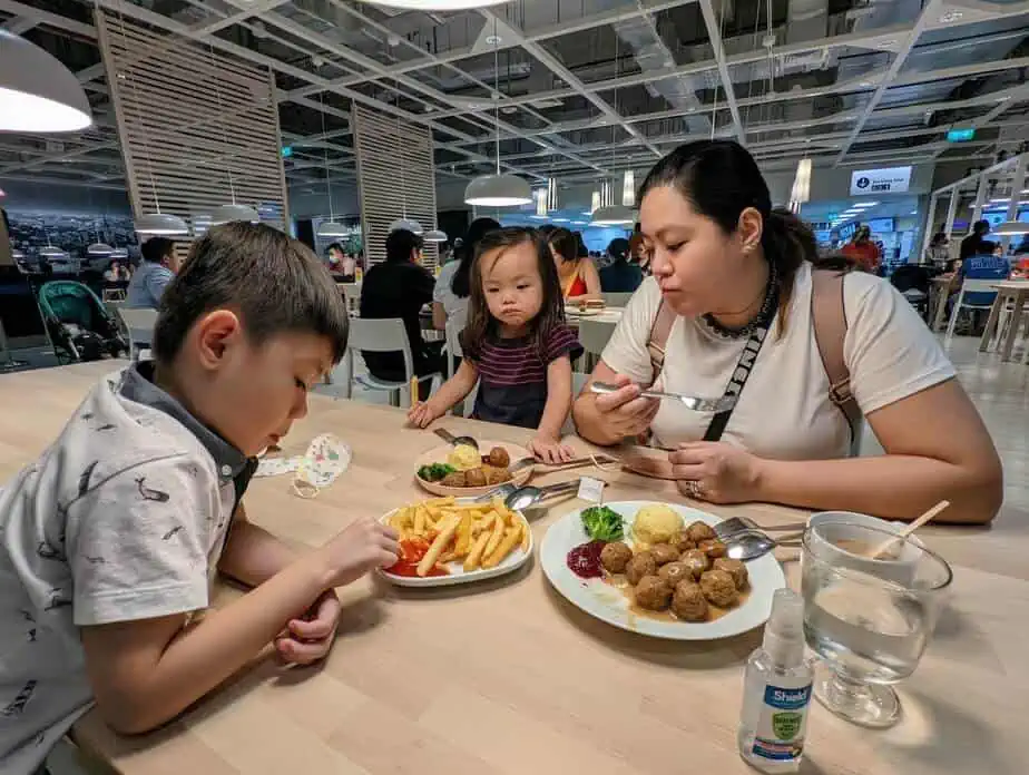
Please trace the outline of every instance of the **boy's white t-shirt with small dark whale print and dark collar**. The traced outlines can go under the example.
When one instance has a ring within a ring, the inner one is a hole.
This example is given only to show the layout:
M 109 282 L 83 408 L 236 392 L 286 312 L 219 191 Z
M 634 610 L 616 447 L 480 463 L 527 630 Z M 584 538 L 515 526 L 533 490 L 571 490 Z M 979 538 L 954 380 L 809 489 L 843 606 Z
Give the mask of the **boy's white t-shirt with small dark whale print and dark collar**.
M 106 377 L 0 492 L 0 773 L 92 705 L 79 627 L 203 609 L 255 464 L 150 381 Z

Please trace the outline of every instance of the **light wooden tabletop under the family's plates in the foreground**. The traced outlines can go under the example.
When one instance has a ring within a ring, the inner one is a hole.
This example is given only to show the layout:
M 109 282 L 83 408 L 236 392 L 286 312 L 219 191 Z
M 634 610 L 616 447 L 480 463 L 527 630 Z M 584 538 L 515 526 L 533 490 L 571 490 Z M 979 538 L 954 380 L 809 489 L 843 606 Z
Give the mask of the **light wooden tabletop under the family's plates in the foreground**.
M 0 377 L 0 477 L 32 460 L 109 369 Z M 458 419 L 445 426 L 480 439 L 529 435 Z M 290 494 L 287 479 L 273 478 L 255 480 L 246 496 L 251 519 L 298 548 L 317 546 L 354 517 L 419 498 L 411 461 L 438 444 L 404 428 L 402 412 L 312 396 L 286 452 L 322 431 L 339 433 L 355 452 L 332 488 L 305 501 Z M 667 482 L 597 475 L 610 483 L 608 500 L 686 502 Z M 575 504 L 537 521 L 537 541 Z M 702 508 L 764 523 L 803 516 L 773 506 Z M 992 530 L 928 528 L 924 536 L 954 563 L 955 582 L 921 666 L 899 687 L 904 718 L 870 732 L 813 704 L 802 772 L 1027 772 L 1029 530 L 1002 519 Z M 795 558 L 781 558 L 794 585 Z M 472 588 L 403 591 L 369 578 L 341 596 L 340 638 L 320 668 L 257 663 L 143 737 L 120 738 L 91 713 L 76 726 L 78 742 L 126 775 L 753 773 L 736 754 L 735 734 L 743 665 L 759 631 L 702 644 L 625 632 L 567 604 L 537 562 Z

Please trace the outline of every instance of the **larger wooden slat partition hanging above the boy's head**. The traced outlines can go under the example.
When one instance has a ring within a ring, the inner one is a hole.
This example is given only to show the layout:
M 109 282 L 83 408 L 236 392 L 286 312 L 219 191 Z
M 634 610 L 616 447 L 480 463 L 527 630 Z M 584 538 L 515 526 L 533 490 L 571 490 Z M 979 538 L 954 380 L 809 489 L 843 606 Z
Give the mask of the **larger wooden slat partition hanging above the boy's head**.
M 267 68 L 153 30 L 108 9 L 97 32 L 136 215 L 178 215 L 205 230 L 233 200 L 277 228 L 288 220 L 275 82 Z M 232 173 L 232 187 L 229 186 Z

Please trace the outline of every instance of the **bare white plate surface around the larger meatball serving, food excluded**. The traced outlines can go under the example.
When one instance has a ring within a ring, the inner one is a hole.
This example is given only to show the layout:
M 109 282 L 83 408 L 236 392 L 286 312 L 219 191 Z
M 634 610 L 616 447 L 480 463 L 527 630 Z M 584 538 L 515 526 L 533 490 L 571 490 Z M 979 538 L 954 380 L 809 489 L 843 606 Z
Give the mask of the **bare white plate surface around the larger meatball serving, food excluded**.
M 605 503 L 621 514 L 626 536 L 631 534 L 636 512 L 654 501 L 620 501 Z M 717 524 L 719 517 L 697 511 L 678 503 L 666 503 L 682 514 L 684 523 L 696 520 Z M 687 621 L 660 621 L 629 610 L 621 590 L 615 589 L 601 579 L 580 579 L 568 569 L 568 552 L 589 540 L 582 527 L 581 511 L 565 514 L 550 526 L 540 545 L 540 563 L 550 583 L 575 606 L 590 616 L 615 627 L 670 640 L 715 640 L 728 638 L 759 627 L 772 614 L 772 595 L 786 586 L 783 569 L 772 555 L 747 562 L 751 576 L 751 595 L 742 605 L 714 621 L 693 624 Z

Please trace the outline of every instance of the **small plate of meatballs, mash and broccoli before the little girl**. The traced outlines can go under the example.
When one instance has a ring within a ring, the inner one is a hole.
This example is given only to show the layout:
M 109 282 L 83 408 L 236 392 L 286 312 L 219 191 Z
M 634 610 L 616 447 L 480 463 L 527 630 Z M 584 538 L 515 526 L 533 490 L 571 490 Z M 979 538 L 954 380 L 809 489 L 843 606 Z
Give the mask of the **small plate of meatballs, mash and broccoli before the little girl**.
M 414 481 L 434 496 L 474 498 L 484 496 L 504 482 L 521 487 L 532 475 L 532 468 L 522 468 L 513 474 L 510 467 L 529 450 L 506 441 L 477 439 L 478 452 L 471 447 L 444 444 L 429 450 L 414 463 Z

